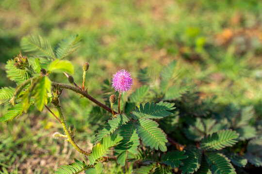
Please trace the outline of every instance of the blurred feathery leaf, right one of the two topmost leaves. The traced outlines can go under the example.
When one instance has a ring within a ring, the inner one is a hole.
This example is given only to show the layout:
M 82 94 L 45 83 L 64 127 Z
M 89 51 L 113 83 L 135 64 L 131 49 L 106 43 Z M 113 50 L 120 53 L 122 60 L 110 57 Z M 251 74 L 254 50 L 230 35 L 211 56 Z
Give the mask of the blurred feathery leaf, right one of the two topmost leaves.
M 80 47 L 81 39 L 82 37 L 79 35 L 70 35 L 66 39 L 62 39 L 62 41 L 60 41 L 55 47 L 55 56 L 63 59 L 73 53 Z

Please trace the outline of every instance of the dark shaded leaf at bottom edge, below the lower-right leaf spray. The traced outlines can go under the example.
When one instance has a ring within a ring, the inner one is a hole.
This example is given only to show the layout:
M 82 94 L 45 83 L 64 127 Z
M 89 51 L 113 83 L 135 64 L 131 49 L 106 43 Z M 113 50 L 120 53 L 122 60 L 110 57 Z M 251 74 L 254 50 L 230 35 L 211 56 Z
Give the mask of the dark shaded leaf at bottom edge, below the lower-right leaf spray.
M 196 146 L 188 146 L 184 150 L 188 158 L 182 160 L 184 166 L 181 166 L 180 169 L 182 170 L 182 174 L 193 174 L 200 167 L 202 153 Z

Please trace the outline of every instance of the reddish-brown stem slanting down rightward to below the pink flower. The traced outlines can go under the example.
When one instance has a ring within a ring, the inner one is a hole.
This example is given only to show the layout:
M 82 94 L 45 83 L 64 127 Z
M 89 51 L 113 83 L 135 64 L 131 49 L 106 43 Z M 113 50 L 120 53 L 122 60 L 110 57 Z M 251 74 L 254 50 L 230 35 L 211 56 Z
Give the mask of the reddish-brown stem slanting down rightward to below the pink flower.
M 92 96 L 90 96 L 87 92 L 82 91 L 81 88 L 72 87 L 70 85 L 59 84 L 59 83 L 55 83 L 55 82 L 52 83 L 52 86 L 60 86 L 60 87 L 65 88 L 65 89 L 69 89 L 69 90 L 75 91 L 75 92 L 81 94 L 82 96 L 84 96 L 85 98 L 89 99 L 90 101 L 96 103 L 98 106 L 102 107 L 103 109 L 107 110 L 108 112 L 110 112 L 110 113 L 112 112 L 112 109 L 110 107 L 104 105 L 101 102 L 98 102 L 96 99 L 94 99 Z M 116 115 L 118 113 L 114 111 L 114 114 Z

